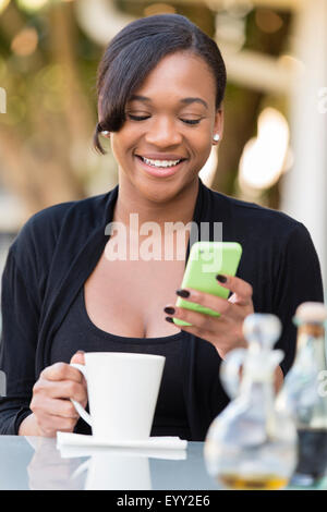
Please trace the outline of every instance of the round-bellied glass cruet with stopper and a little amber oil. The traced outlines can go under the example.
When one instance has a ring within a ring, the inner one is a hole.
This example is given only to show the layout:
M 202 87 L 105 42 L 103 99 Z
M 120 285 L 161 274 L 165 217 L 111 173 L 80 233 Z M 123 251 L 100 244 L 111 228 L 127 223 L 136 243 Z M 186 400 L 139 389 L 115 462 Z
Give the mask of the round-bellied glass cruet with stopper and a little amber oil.
M 275 315 L 249 315 L 247 349 L 221 364 L 221 380 L 233 399 L 210 425 L 204 447 L 208 473 L 230 489 L 280 489 L 296 464 L 296 429 L 275 407 L 275 369 L 283 352 L 272 350 L 281 332 Z M 240 377 L 240 375 L 242 375 Z

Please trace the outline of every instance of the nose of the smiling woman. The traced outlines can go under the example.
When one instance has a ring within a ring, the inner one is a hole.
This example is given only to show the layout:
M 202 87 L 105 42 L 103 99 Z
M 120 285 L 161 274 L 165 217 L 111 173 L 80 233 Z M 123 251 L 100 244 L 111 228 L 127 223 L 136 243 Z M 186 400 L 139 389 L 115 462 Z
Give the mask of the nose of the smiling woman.
M 182 142 L 177 120 L 167 117 L 154 120 L 146 133 L 146 142 L 157 147 L 177 146 Z

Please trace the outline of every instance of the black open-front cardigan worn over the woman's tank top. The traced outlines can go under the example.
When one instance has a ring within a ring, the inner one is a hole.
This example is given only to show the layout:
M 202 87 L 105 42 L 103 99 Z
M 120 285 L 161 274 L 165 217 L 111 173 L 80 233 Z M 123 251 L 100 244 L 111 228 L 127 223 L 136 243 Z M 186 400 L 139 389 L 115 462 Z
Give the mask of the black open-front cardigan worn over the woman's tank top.
M 26 222 L 10 247 L 1 292 L 0 369 L 7 374 L 7 397 L 0 400 L 0 434 L 17 434 L 31 414 L 33 386 L 53 361 L 56 333 L 108 242 L 106 225 L 118 193 L 116 186 L 107 194 L 46 208 Z M 255 312 L 276 314 L 282 322 L 277 345 L 286 354 L 286 373 L 294 357 L 296 307 L 324 300 L 319 263 L 306 228 L 282 212 L 214 192 L 201 180 L 193 221 L 198 227 L 208 223 L 206 240 L 215 240 L 214 222 L 222 222 L 222 240 L 242 245 L 238 276 L 253 287 Z M 186 259 L 189 254 L 190 242 Z M 201 441 L 229 399 L 213 344 L 190 333 L 181 344 L 189 439 Z M 59 353 L 57 357 L 63 361 Z

